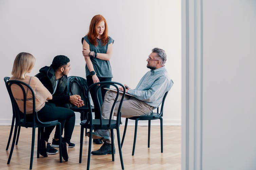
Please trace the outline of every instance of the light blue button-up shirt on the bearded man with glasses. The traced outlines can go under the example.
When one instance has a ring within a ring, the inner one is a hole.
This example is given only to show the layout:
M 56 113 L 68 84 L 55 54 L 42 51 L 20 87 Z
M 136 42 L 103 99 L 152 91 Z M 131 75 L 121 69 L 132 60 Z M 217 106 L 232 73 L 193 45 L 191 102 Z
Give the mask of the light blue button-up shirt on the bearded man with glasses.
M 141 78 L 137 87 L 129 89 L 128 93 L 156 108 L 161 104 L 164 94 L 171 89 L 172 85 L 173 81 L 169 78 L 164 66 L 148 71 Z

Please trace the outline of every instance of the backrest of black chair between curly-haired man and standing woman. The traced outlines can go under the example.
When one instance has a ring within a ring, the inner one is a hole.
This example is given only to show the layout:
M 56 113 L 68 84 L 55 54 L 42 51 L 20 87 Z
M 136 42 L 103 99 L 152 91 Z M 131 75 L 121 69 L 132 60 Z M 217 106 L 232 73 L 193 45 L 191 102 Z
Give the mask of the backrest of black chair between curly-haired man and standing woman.
M 90 98 L 87 98 L 87 81 L 83 77 L 78 77 L 78 76 L 69 76 L 68 77 L 68 94 L 70 96 L 72 95 L 80 95 L 81 99 L 84 101 L 85 106 L 87 106 L 87 100 Z

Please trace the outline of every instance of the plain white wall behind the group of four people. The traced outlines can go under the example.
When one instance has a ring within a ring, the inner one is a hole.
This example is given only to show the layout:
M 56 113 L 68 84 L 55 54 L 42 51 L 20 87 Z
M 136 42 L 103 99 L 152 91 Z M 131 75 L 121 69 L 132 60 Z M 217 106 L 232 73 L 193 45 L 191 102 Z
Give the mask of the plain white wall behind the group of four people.
M 164 124 L 181 124 L 179 0 L 1 0 L 1 79 L 11 76 L 13 61 L 19 52 L 30 52 L 36 57 L 31 75 L 37 74 L 41 67 L 49 66 L 54 56 L 62 54 L 71 59 L 69 75 L 85 77 L 81 38 L 96 14 L 106 18 L 109 35 L 115 40 L 111 58 L 114 81 L 135 88 L 148 71 L 146 59 L 151 49 L 166 50 L 166 67 L 175 84 L 166 99 Z M 11 103 L 3 80 L 0 88 L 0 125 L 10 125 Z M 76 119 L 79 122 L 79 115 Z

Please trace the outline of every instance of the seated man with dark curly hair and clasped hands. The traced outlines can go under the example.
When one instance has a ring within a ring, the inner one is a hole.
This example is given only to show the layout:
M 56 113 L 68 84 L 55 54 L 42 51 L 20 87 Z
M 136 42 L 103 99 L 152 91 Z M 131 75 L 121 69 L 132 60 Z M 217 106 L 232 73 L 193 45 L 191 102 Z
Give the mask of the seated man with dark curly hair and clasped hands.
M 80 107 L 84 105 L 79 95 L 68 95 L 68 73 L 70 71 L 70 59 L 65 55 L 57 55 L 53 58 L 51 66 L 44 66 L 35 75 L 43 84 L 45 88 L 52 94 L 53 99 L 49 100 L 49 104 L 59 107 L 69 108 L 69 103 Z M 54 126 L 53 126 L 54 128 Z M 52 146 L 47 143 L 47 154 L 56 154 L 58 151 L 53 147 L 59 147 L 59 132 L 58 128 L 55 130 L 55 135 L 52 140 Z M 69 144 L 69 148 L 74 147 L 74 143 Z

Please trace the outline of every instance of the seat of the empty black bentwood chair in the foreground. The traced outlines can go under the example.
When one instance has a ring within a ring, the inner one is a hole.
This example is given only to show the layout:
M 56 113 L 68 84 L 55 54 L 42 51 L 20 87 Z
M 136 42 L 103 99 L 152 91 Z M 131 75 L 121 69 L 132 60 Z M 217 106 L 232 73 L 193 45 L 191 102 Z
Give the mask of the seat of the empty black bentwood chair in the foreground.
M 81 121 L 80 125 L 84 128 L 90 128 L 90 123 L 86 123 L 87 120 Z M 100 119 L 92 120 L 93 127 L 97 127 L 97 129 L 105 129 L 105 127 L 109 127 L 109 119 L 102 119 L 102 127 L 100 126 Z M 110 127 L 116 127 L 116 120 L 111 120 Z

